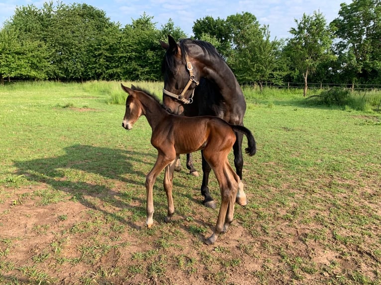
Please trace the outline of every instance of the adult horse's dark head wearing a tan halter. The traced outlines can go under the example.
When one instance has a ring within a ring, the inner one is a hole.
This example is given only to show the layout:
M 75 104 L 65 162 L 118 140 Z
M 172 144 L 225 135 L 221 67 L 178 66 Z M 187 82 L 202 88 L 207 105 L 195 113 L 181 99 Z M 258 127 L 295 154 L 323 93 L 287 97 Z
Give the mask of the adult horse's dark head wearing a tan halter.
M 169 43 L 161 42 L 166 50 L 162 71 L 164 74 L 163 105 L 174 114 L 184 112 L 184 104 L 193 101 L 194 88 L 198 85 L 200 73 L 196 61 L 189 55 L 185 45 L 178 45 L 173 37 Z

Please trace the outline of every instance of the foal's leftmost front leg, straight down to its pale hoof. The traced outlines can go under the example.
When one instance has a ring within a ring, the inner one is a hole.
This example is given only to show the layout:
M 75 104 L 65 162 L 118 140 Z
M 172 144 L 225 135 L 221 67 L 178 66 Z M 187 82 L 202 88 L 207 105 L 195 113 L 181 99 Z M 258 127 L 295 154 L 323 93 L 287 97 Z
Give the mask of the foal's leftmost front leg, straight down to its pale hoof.
M 147 189 L 147 205 L 146 205 L 147 219 L 146 219 L 146 224 L 148 227 L 151 227 L 153 224 L 153 214 L 155 212 L 154 203 L 153 203 L 153 190 L 152 190 L 153 185 L 155 184 L 156 178 L 158 177 L 159 173 L 172 160 L 173 160 L 173 158 L 169 159 L 166 156 L 159 153 L 154 167 L 151 169 L 151 171 L 146 176 L 146 189 Z

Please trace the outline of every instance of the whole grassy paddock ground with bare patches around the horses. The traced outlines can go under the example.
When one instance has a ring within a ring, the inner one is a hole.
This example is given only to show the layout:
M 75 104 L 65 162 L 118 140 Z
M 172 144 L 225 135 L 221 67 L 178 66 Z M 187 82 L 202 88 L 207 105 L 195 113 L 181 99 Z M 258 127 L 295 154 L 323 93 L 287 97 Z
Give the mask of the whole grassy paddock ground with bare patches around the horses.
M 134 84 L 161 96 L 162 83 Z M 258 143 L 244 154 L 249 204 L 207 246 L 218 212 L 185 169 L 172 221 L 161 175 L 145 227 L 156 150 L 144 117 L 121 127 L 125 95 L 120 82 L 0 86 L 1 285 L 381 284 L 377 100 L 357 111 L 245 90 Z M 213 175 L 210 188 L 219 202 Z

